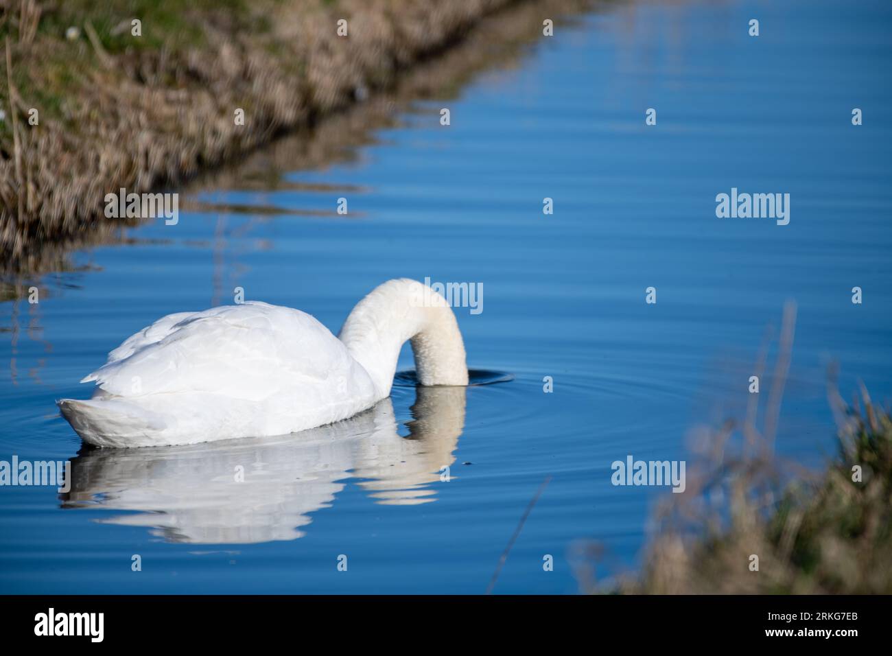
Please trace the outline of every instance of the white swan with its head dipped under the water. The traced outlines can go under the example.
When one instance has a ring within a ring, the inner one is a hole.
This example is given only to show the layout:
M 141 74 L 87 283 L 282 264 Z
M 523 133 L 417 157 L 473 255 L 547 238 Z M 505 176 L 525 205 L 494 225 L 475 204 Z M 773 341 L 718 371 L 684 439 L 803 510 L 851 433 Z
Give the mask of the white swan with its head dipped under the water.
M 407 340 L 422 385 L 467 385 L 449 304 L 401 278 L 359 301 L 338 337 L 309 314 L 268 303 L 169 314 L 81 380 L 95 381 L 92 399 L 57 403 L 97 446 L 284 435 L 348 419 L 387 397 Z

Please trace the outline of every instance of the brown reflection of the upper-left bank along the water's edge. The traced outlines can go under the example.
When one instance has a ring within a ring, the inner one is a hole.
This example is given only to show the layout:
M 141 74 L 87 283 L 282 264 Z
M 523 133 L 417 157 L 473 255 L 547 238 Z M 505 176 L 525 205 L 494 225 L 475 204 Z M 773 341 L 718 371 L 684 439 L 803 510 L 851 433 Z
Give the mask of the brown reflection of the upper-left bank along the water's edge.
M 512 5 L 480 21 L 447 50 L 428 57 L 402 71 L 396 83 L 371 94 L 343 111 L 330 112 L 325 120 L 298 126 L 270 143 L 238 156 L 235 161 L 210 168 L 191 179 L 180 191 L 180 209 L 193 209 L 191 190 L 282 188 L 292 183 L 283 179 L 295 170 L 318 170 L 355 156 L 356 146 L 375 139 L 377 129 L 392 127 L 402 112 L 411 111 L 418 100 L 449 103 L 483 72 L 506 70 L 520 65 L 530 46 L 541 39 L 541 16 L 555 17 L 556 29 L 563 32 L 574 17 L 591 8 L 588 0 L 538 0 Z M 433 117 L 436 120 L 437 117 Z M 214 208 L 226 212 L 228 208 Z M 99 220 L 75 235 L 52 241 L 31 241 L 29 248 L 12 260 L 0 258 L 0 297 L 23 298 L 30 286 L 44 287 L 43 274 L 77 271 L 85 265 L 71 253 L 97 245 L 133 243 L 131 226 L 139 220 Z

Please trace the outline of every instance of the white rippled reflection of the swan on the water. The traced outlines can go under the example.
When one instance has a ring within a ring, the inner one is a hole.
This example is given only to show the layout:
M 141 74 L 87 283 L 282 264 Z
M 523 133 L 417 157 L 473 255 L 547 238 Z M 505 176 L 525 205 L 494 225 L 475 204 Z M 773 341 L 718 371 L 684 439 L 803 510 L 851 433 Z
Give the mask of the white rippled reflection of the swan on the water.
M 71 461 L 62 507 L 137 511 L 98 521 L 148 527 L 174 543 L 252 544 L 305 535 L 310 514 L 330 506 L 346 478 L 359 479 L 379 503 L 431 502 L 429 485 L 455 461 L 465 394 L 465 387 L 418 386 L 406 437 L 385 398 L 300 435 L 89 448 Z

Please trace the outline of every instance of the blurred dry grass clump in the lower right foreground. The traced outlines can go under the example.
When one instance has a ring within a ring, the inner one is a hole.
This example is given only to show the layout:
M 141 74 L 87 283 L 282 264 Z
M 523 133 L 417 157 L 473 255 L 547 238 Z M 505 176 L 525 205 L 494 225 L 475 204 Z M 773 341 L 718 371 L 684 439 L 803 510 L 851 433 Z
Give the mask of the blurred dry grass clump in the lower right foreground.
M 792 345 L 781 344 L 781 354 Z M 776 382 L 776 381 L 775 381 Z M 863 407 L 830 386 L 838 453 L 822 472 L 772 454 L 772 436 L 742 426 L 712 432 L 689 466 L 688 488 L 668 494 L 637 575 L 589 592 L 621 594 L 892 593 L 892 418 L 863 390 Z M 754 394 L 757 395 L 757 394 Z M 860 468 L 860 469 L 855 469 Z M 860 474 L 860 476 L 859 476 Z M 598 547 L 582 564 L 591 572 Z M 758 557 L 755 567 L 754 556 Z

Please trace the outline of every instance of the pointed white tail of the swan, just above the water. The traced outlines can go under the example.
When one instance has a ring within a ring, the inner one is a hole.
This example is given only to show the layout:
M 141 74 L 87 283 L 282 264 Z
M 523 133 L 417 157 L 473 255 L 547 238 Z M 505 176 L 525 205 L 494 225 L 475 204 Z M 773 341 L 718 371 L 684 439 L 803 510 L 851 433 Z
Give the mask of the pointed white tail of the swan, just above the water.
M 139 444 L 166 428 L 158 414 L 120 399 L 62 399 L 56 404 L 81 439 L 96 446 Z

